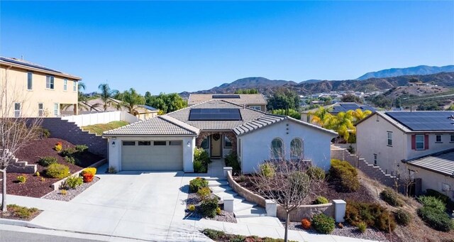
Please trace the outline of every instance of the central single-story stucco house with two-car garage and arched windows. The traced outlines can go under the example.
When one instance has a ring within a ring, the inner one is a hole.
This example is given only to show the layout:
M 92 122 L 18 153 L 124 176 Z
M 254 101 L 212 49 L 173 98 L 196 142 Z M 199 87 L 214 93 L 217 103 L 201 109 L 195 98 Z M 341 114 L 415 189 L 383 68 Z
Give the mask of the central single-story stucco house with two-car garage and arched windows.
M 328 170 L 331 139 L 338 134 L 289 116 L 209 100 L 153 119 L 104 132 L 109 166 L 116 170 L 193 172 L 194 148 L 212 159 L 235 152 L 243 173 L 277 154 L 304 158 Z

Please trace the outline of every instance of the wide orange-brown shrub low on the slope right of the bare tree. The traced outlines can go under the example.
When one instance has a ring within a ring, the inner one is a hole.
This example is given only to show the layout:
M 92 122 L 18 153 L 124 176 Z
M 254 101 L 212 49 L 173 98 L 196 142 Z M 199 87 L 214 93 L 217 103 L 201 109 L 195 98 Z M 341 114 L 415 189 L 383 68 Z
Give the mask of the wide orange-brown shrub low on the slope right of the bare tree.
M 353 226 L 358 226 L 360 222 L 365 222 L 367 226 L 372 226 L 385 232 L 389 231 L 389 227 L 391 231 L 396 229 L 394 216 L 391 216 L 389 211 L 379 204 L 348 201 L 345 221 Z

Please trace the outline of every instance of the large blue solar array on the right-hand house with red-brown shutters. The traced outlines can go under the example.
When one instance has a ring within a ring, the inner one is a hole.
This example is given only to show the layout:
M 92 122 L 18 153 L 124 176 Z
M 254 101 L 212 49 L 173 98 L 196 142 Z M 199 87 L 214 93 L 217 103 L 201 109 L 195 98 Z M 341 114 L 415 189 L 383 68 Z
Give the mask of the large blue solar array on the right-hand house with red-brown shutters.
M 454 111 L 389 111 L 392 119 L 402 123 L 412 131 L 452 131 Z

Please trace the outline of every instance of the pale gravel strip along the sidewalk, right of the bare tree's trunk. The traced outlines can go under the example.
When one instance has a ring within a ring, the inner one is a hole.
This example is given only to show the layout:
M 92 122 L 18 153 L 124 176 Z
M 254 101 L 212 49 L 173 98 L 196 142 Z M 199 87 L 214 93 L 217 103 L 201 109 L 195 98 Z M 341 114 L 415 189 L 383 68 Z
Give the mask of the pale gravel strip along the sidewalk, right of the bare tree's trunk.
M 284 224 L 284 223 L 282 223 Z M 284 224 L 285 226 L 285 224 Z M 301 223 L 299 222 L 290 222 L 289 229 L 292 230 L 302 230 L 306 231 L 301 227 Z M 306 232 L 308 233 L 317 233 L 314 229 L 309 229 Z M 353 238 L 362 238 L 362 239 L 370 239 L 372 241 L 389 241 L 386 237 L 386 233 L 382 233 L 381 231 L 377 231 L 375 229 L 367 228 L 365 233 L 360 233 L 355 226 L 350 226 L 349 224 L 343 224 L 343 229 L 336 226 L 333 233 L 333 236 L 345 236 L 345 237 L 353 237 Z

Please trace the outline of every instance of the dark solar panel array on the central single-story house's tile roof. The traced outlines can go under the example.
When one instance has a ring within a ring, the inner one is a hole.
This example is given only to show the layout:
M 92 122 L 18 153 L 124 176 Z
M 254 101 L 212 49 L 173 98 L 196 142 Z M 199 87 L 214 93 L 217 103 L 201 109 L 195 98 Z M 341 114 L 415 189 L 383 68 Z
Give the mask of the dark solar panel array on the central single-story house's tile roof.
M 240 121 L 240 109 L 191 109 L 189 121 Z

